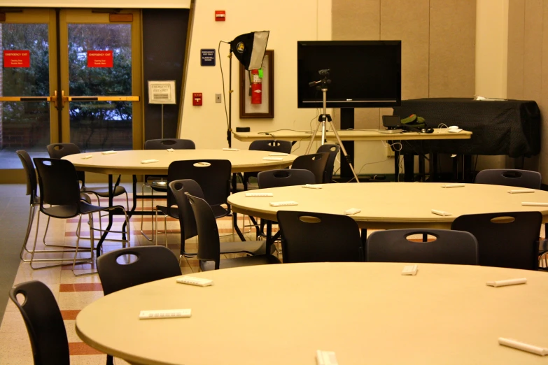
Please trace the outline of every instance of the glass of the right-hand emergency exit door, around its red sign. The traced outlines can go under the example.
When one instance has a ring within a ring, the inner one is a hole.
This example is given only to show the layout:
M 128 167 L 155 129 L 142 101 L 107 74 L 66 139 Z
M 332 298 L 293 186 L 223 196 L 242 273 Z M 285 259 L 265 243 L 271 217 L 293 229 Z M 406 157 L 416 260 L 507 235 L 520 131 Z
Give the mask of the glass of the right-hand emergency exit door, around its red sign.
M 132 94 L 131 24 L 69 24 L 69 95 Z M 106 66 L 89 64 L 89 51 L 112 51 Z M 71 142 L 84 152 L 131 150 L 132 103 L 78 101 L 70 103 Z

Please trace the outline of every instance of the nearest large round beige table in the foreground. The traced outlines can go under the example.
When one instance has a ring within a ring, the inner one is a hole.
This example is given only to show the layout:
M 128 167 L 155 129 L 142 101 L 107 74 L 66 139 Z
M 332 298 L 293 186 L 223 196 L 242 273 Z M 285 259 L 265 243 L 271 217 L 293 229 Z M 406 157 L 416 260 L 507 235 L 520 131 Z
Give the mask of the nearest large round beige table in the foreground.
M 548 274 L 486 266 L 312 263 L 193 273 L 94 301 L 76 333 L 131 364 L 316 364 L 316 350 L 348 364 L 546 364 L 498 338 L 548 347 Z M 486 282 L 526 278 L 524 285 Z M 191 317 L 139 320 L 141 310 Z

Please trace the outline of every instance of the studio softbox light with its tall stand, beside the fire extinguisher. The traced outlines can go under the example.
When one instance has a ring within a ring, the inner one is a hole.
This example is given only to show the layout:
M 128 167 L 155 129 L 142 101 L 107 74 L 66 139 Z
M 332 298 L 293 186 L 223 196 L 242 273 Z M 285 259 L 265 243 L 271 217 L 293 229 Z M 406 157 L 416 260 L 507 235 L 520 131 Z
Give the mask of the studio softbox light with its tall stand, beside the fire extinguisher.
M 267 42 L 270 31 L 252 31 L 234 38 L 230 44 L 229 78 L 228 78 L 228 147 L 232 147 L 232 53 L 238 61 L 249 70 L 257 70 L 262 67 L 262 59 L 265 58 Z M 240 96 L 241 97 L 241 96 Z

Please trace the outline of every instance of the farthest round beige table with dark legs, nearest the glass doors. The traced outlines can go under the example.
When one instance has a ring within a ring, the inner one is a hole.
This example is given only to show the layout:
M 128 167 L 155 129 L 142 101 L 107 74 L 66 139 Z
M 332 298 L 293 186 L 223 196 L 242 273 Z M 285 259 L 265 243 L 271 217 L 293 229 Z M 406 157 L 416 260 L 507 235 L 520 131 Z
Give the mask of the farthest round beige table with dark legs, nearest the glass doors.
M 115 153 L 105 152 L 85 152 L 76 155 L 63 157 L 76 167 L 78 171 L 87 171 L 92 173 L 102 173 L 108 175 L 109 206 L 113 206 L 113 175 L 132 175 L 133 176 L 133 206 L 128 215 L 131 217 L 137 213 L 136 208 L 136 185 L 137 175 L 167 175 L 169 164 L 180 160 L 205 160 L 205 159 L 227 159 L 232 164 L 232 173 L 265 171 L 272 169 L 284 169 L 293 163 L 297 157 L 295 155 L 269 156 L 267 151 L 250 150 L 126 150 L 115 151 Z M 264 159 L 265 157 L 269 159 Z M 146 160 L 155 160 L 152 163 L 143 163 Z M 116 184 L 120 183 L 120 178 Z M 141 196 L 150 197 L 150 196 Z M 108 215 L 108 227 L 101 236 L 97 244 L 97 255 L 100 255 L 101 245 L 112 227 L 112 215 Z M 234 217 L 235 220 L 235 217 Z M 237 226 L 235 227 L 237 228 Z M 243 238 L 241 232 L 237 229 L 240 238 Z

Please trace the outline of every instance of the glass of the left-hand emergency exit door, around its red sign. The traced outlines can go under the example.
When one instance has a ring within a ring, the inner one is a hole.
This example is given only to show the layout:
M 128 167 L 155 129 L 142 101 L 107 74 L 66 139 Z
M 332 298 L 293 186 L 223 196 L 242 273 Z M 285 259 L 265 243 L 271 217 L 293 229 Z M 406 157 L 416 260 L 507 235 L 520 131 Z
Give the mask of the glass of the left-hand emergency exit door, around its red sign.
M 48 24 L 0 24 L 1 96 L 49 96 Z M 4 50 L 30 51 L 29 67 L 5 67 Z M 0 102 L 0 169 L 22 169 L 16 150 L 48 157 L 50 104 Z

